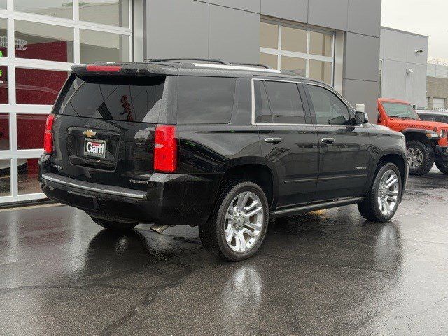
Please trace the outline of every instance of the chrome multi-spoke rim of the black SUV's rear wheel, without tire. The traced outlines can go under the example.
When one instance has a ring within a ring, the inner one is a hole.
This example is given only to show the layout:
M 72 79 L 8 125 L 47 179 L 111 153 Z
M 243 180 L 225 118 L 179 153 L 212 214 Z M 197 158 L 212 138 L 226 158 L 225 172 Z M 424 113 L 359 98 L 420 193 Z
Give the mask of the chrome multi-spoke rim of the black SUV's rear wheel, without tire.
M 230 203 L 225 213 L 225 240 L 232 251 L 244 253 L 250 250 L 260 237 L 265 211 L 260 198 L 246 191 Z

